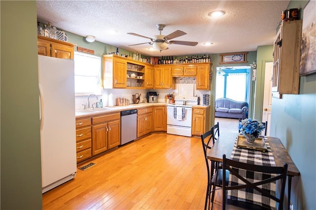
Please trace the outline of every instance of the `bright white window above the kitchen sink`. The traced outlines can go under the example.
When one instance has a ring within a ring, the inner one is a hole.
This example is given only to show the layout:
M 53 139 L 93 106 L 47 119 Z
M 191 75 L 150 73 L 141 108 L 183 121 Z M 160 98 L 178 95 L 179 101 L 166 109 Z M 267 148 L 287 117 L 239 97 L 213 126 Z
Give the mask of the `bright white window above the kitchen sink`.
M 101 57 L 75 52 L 75 93 L 100 94 Z

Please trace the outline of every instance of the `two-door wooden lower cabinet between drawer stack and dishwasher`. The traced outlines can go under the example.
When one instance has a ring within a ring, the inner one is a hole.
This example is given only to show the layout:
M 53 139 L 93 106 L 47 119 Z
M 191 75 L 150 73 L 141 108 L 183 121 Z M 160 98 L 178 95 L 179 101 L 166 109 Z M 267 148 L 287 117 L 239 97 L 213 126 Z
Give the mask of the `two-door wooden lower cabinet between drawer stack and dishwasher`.
M 120 144 L 120 113 L 92 117 L 92 155 Z

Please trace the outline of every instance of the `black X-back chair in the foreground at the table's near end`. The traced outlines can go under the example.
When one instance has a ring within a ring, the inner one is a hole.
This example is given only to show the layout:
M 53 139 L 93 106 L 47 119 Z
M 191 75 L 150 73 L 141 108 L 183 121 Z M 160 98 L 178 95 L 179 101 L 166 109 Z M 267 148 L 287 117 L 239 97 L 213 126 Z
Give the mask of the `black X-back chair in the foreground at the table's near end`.
M 238 161 L 230 160 L 226 158 L 226 155 L 223 155 L 223 169 L 230 171 L 231 176 L 236 176 L 238 179 L 243 182 L 242 184 L 237 184 L 234 186 L 226 186 L 223 185 L 223 204 L 222 210 L 226 210 L 226 197 L 227 197 L 227 190 L 236 190 L 236 189 L 244 189 L 250 188 L 255 189 L 256 191 L 260 192 L 261 195 L 269 197 L 270 199 L 275 200 L 278 203 L 278 210 L 283 209 L 283 200 L 284 200 L 284 189 L 285 189 L 285 182 L 286 182 L 286 175 L 287 175 L 287 164 L 284 163 L 283 167 L 276 167 L 276 166 L 258 166 L 253 164 L 241 163 Z M 265 174 L 273 174 L 276 176 L 272 177 L 265 177 L 263 180 L 256 180 L 256 181 L 249 181 L 238 174 L 238 169 L 243 169 L 246 171 L 252 172 L 259 172 Z M 223 180 L 226 178 L 226 174 L 223 174 Z M 281 188 L 280 192 L 278 193 L 278 197 L 271 195 L 270 191 L 262 189 L 263 184 L 271 183 L 273 181 L 280 180 L 281 181 Z M 224 184 L 224 183 L 223 183 Z M 259 187 L 260 186 L 260 187 Z M 241 201 L 234 201 L 234 205 L 241 207 L 242 209 L 249 209 L 249 210 L 256 210 L 256 209 L 267 209 L 262 206 L 248 203 L 248 202 L 241 202 Z

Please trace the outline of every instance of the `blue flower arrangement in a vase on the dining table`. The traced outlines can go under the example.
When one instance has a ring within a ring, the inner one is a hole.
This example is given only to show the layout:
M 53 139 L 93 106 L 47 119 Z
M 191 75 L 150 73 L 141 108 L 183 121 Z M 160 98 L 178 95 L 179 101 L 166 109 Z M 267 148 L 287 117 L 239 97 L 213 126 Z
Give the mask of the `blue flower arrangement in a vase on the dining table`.
M 265 126 L 256 119 L 247 118 L 239 121 L 238 129 L 241 134 L 252 134 L 255 138 L 258 138 Z

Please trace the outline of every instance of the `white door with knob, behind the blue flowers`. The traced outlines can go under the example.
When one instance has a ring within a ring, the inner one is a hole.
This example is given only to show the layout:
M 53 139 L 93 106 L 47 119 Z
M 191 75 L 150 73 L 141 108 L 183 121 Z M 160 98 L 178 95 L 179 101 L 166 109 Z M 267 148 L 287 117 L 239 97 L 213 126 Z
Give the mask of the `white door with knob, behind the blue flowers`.
M 272 108 L 272 74 L 273 62 L 266 62 L 265 64 L 265 83 L 263 92 L 263 110 L 262 122 L 268 121 L 267 136 L 270 136 L 270 123 L 271 123 L 271 108 Z M 264 135 L 264 133 L 262 133 Z

